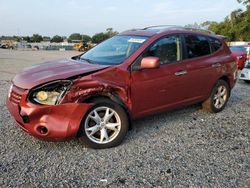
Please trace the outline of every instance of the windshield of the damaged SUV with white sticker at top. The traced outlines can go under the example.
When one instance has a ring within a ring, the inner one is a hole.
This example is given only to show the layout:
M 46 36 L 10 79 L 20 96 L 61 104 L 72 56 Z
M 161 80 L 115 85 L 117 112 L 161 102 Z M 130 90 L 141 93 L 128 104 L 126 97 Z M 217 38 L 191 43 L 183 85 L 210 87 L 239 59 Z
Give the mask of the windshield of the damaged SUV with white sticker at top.
M 147 39 L 144 36 L 114 36 L 87 51 L 80 59 L 102 65 L 121 64 Z

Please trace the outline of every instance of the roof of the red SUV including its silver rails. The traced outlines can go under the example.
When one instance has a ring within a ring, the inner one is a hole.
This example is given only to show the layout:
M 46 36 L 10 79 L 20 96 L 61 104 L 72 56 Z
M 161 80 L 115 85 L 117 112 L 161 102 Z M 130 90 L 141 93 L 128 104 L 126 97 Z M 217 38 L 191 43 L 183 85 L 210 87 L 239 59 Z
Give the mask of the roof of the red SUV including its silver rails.
M 142 29 L 131 29 L 120 33 L 119 35 L 138 35 L 138 36 L 147 36 L 151 37 L 160 33 L 174 33 L 174 32 L 185 32 L 185 33 L 196 33 L 196 34 L 206 34 L 213 35 L 216 38 L 222 38 L 215 35 L 214 32 L 192 27 L 182 27 L 182 26 L 173 26 L 173 25 L 159 25 L 159 26 L 150 26 Z

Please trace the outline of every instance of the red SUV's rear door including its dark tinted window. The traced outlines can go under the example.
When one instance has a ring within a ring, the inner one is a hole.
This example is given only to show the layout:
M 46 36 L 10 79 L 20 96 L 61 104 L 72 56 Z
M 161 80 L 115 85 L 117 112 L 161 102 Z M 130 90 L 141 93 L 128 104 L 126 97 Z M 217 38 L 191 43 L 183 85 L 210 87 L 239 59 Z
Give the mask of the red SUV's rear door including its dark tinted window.
M 190 100 L 202 100 L 210 94 L 221 74 L 220 61 L 223 58 L 216 53 L 221 43 L 203 35 L 184 35 L 184 41 L 186 53 L 183 64 L 187 71 L 186 84 L 190 88 L 186 96 Z

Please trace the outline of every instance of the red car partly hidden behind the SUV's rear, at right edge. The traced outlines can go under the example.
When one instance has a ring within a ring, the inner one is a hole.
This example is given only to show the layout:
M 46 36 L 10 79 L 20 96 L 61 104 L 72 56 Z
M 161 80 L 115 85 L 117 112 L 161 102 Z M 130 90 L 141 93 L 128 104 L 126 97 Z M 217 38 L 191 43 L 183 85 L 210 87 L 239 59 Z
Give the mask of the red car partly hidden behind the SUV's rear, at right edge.
M 230 50 L 237 62 L 238 69 L 242 70 L 244 68 L 247 58 L 247 48 L 249 45 L 239 45 L 239 46 L 230 46 Z

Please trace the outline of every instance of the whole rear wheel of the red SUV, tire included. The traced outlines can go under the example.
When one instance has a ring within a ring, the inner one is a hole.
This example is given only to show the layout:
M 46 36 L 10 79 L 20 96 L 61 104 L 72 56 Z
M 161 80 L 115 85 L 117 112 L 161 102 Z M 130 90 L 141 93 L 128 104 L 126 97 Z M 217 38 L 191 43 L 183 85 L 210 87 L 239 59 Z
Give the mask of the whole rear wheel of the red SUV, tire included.
M 212 90 L 210 97 L 202 103 L 204 110 L 217 113 L 222 111 L 228 101 L 230 89 L 224 80 L 218 80 Z

